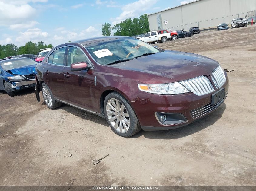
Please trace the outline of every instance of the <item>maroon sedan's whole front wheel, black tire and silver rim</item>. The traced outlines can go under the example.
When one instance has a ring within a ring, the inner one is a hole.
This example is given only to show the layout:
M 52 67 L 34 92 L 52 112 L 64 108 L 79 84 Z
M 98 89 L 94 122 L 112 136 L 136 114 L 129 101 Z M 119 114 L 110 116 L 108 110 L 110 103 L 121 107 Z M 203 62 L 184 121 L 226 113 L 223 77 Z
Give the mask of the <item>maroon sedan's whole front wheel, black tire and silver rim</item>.
M 106 96 L 104 114 L 109 126 L 121 137 L 130 137 L 141 130 L 140 123 L 131 105 L 117 92 L 112 92 Z

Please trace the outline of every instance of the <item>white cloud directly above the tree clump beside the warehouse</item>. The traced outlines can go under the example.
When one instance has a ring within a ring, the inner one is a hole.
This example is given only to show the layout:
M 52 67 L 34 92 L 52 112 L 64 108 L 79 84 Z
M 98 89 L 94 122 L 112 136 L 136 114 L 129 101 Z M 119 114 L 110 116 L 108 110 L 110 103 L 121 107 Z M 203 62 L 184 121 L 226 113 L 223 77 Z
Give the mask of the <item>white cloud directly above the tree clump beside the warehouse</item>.
M 110 20 L 115 25 L 127 18 L 138 17 L 140 14 L 145 13 L 146 10 L 152 8 L 156 3 L 157 0 L 139 0 L 129 3 L 121 8 L 123 12 L 118 17 L 110 18 Z

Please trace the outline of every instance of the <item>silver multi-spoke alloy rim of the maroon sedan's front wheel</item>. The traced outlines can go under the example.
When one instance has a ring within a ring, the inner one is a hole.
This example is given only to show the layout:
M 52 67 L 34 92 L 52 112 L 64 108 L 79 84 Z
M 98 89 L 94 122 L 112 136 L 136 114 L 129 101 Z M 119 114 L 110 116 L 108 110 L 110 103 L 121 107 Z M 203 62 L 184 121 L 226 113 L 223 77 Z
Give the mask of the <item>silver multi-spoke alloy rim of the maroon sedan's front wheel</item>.
M 125 105 L 118 99 L 111 98 L 108 100 L 106 110 L 111 125 L 118 132 L 127 132 L 130 127 L 130 116 Z

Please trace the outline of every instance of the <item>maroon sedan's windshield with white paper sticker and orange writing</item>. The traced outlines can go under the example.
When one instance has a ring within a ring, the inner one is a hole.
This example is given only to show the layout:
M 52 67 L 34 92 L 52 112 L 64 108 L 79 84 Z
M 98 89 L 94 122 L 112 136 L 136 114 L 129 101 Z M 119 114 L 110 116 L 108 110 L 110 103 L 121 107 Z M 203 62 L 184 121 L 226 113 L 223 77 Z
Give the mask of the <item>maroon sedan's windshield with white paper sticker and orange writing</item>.
M 161 52 L 154 46 L 135 38 L 117 38 L 85 45 L 91 56 L 101 65 Z M 123 60 L 124 59 L 124 60 Z

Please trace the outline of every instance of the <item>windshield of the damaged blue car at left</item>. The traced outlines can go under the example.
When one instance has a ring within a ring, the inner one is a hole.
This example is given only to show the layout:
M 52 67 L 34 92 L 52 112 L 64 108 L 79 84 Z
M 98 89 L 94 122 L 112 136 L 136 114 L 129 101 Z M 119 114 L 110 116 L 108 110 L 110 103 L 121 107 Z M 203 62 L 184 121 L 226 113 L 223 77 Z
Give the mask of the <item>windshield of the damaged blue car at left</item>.
M 3 70 L 8 71 L 15 68 L 21 68 L 24 66 L 38 64 L 35 60 L 24 58 L 24 59 L 9 59 L 1 62 Z

